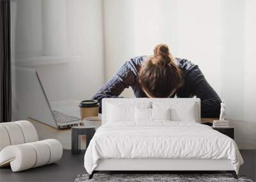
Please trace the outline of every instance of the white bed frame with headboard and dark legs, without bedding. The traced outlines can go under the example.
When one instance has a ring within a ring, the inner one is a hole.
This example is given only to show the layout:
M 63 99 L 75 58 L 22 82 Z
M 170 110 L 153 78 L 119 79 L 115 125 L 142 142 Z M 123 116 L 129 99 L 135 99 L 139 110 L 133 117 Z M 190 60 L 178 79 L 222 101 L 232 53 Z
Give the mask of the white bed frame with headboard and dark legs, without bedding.
M 173 100 L 177 100 L 172 98 Z M 170 101 L 170 98 L 107 98 L 102 100 L 102 124 L 106 122 L 107 102 L 152 102 L 152 101 Z M 198 105 L 198 123 L 200 123 L 200 99 L 199 98 L 179 98 L 179 102 L 195 102 Z M 99 160 L 97 167 L 90 174 L 89 179 L 92 179 L 93 174 L 100 171 L 130 171 L 139 172 L 147 171 L 147 173 L 163 173 L 170 171 L 226 171 L 231 173 L 237 179 L 236 171 L 230 160 L 211 160 L 211 159 L 160 159 L 160 158 L 109 158 Z

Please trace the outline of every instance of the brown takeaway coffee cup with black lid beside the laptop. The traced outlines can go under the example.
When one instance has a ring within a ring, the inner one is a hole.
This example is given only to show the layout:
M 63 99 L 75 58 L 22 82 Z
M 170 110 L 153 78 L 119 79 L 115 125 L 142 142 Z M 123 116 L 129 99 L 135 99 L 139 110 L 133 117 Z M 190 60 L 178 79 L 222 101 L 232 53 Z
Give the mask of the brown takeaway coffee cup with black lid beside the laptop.
M 99 102 L 97 100 L 83 100 L 79 103 L 81 118 L 98 116 Z

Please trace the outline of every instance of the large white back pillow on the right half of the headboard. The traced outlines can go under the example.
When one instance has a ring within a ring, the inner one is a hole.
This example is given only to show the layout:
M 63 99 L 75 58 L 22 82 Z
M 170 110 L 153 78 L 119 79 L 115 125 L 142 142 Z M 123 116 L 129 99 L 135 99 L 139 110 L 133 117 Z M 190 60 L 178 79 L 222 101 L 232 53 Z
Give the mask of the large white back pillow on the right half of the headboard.
M 153 109 L 171 109 L 172 121 L 198 121 L 198 106 L 195 102 L 152 102 Z

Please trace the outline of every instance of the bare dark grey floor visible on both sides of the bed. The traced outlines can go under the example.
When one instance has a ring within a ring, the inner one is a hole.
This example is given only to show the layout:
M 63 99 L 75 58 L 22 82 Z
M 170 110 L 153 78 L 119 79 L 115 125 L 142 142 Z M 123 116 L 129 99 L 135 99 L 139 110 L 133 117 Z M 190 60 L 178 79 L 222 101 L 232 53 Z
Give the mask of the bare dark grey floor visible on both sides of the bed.
M 256 180 L 256 150 L 241 150 L 244 164 L 239 173 Z M 83 167 L 84 153 L 72 155 L 70 150 L 63 151 L 60 162 L 52 163 L 22 172 L 12 172 L 10 167 L 0 169 L 0 181 L 74 181 L 78 174 L 86 173 Z

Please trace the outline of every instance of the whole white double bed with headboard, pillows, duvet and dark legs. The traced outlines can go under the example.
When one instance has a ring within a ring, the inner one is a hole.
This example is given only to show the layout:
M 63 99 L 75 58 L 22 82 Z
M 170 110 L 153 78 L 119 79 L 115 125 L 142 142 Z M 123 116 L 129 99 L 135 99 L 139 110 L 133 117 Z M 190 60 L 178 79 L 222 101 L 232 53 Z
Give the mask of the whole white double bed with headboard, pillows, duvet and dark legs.
M 99 171 L 227 171 L 237 178 L 236 142 L 200 124 L 198 98 L 105 98 L 102 126 L 84 155 Z

